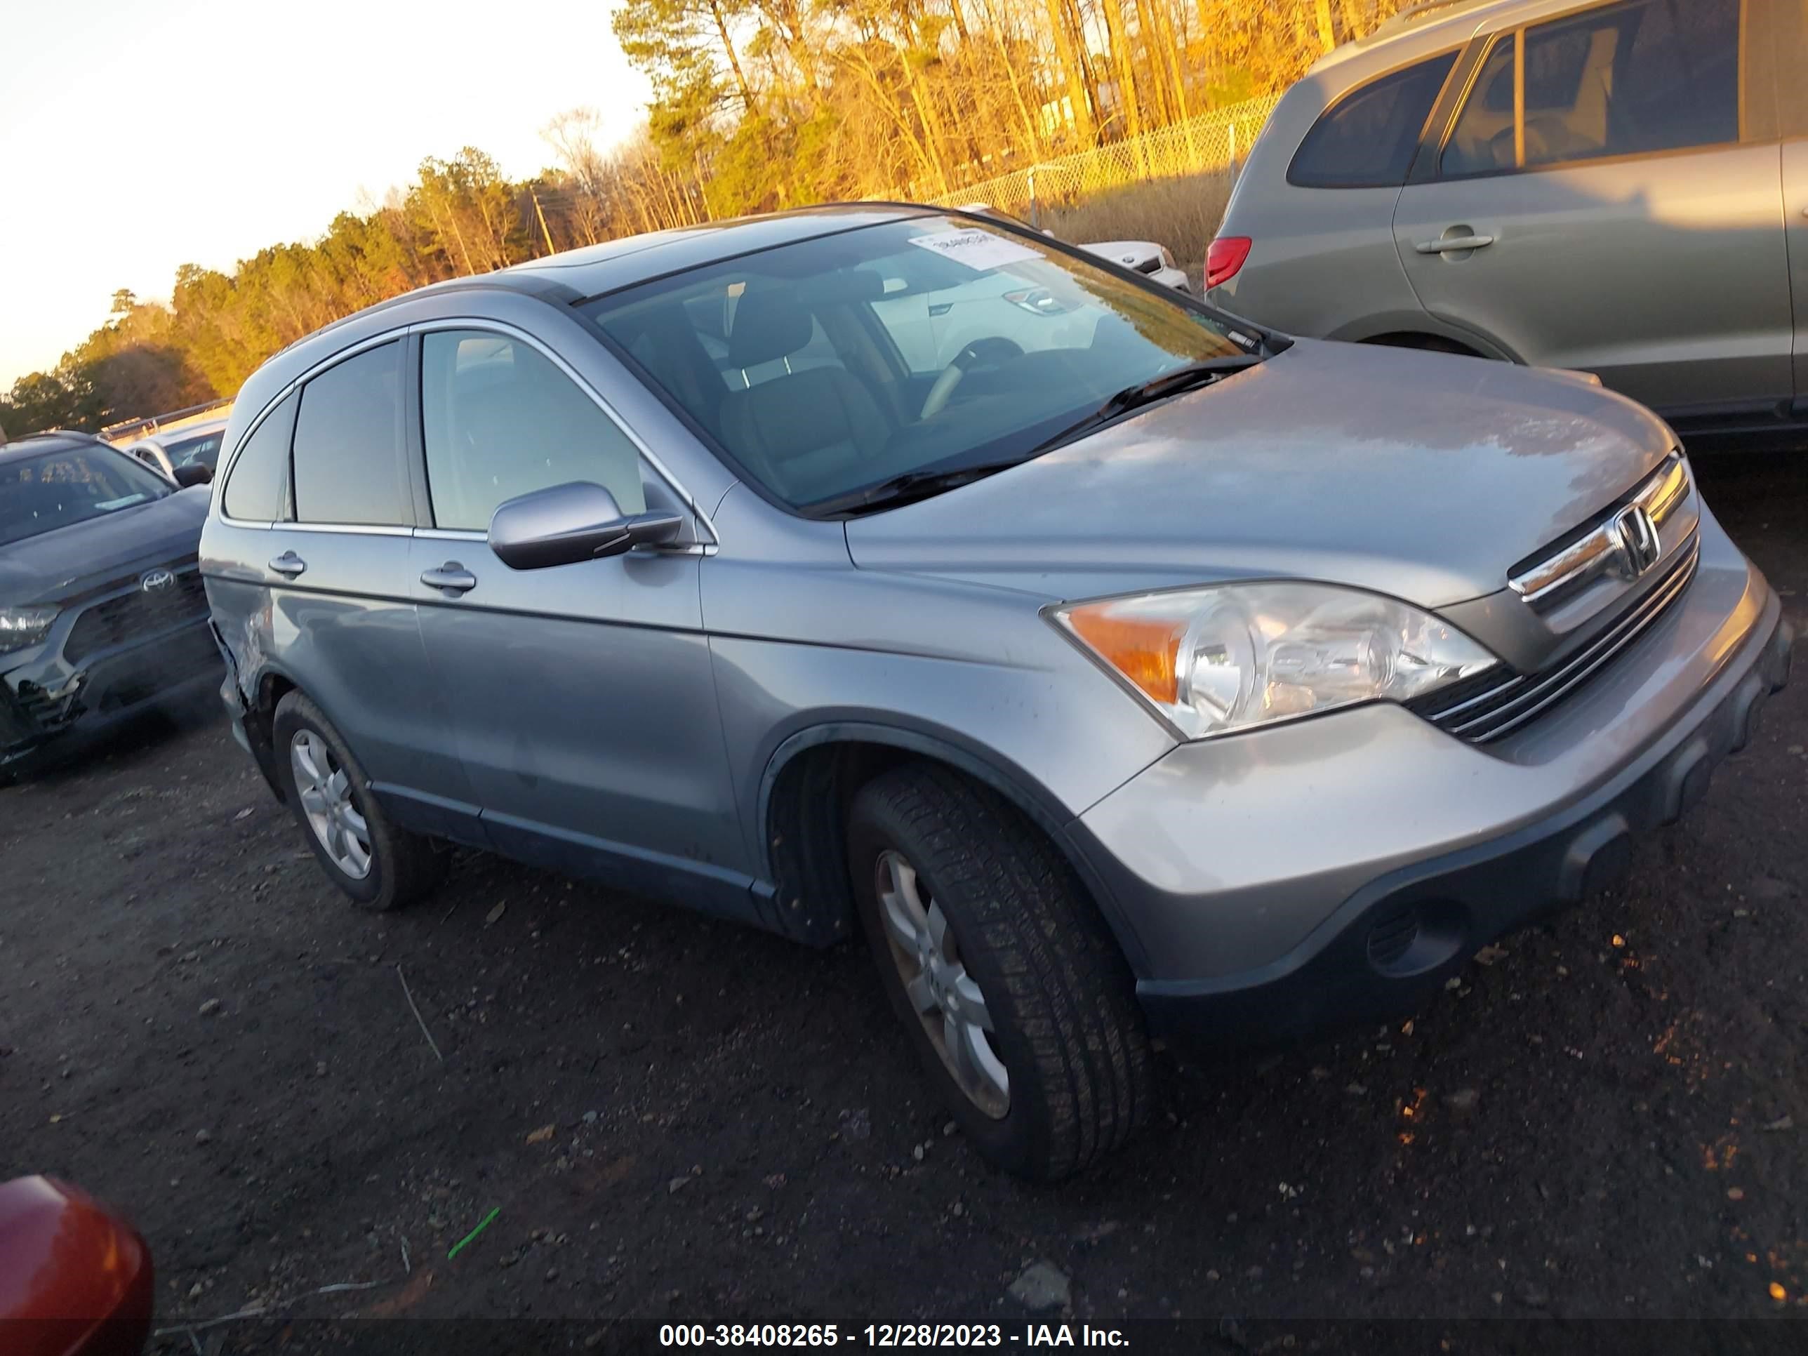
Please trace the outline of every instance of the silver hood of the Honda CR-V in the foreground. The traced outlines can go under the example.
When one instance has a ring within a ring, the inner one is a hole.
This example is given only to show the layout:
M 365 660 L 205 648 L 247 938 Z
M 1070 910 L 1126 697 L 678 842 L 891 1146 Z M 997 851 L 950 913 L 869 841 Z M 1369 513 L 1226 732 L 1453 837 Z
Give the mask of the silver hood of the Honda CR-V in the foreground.
M 1285 577 L 1443 607 L 1506 588 L 1672 447 L 1591 378 L 1298 340 L 1022 466 L 850 519 L 848 551 L 1050 600 Z

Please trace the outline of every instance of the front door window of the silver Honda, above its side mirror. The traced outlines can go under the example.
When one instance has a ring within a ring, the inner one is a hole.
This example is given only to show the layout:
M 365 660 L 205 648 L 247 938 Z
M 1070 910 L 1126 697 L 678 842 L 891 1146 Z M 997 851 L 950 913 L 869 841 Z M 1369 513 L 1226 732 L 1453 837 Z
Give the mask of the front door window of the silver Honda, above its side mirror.
M 481 532 L 504 499 L 568 481 L 645 512 L 640 454 L 533 345 L 474 329 L 421 338 L 421 438 L 434 523 Z

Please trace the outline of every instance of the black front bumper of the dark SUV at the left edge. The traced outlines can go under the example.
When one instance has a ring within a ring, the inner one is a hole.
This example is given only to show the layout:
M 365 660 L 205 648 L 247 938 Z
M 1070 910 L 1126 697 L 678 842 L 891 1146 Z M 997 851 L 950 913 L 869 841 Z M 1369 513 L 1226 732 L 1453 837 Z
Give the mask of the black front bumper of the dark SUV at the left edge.
M 186 702 L 219 682 L 206 617 L 98 653 L 83 664 L 47 654 L 0 678 L 0 765 L 71 736 L 98 736 L 146 707 Z

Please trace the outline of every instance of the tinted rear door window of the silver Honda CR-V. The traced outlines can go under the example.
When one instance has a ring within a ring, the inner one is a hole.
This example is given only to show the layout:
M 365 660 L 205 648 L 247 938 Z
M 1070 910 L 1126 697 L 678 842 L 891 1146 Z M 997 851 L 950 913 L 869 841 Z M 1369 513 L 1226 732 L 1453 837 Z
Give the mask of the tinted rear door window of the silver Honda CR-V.
M 295 418 L 300 523 L 407 523 L 401 344 L 365 349 L 302 387 Z

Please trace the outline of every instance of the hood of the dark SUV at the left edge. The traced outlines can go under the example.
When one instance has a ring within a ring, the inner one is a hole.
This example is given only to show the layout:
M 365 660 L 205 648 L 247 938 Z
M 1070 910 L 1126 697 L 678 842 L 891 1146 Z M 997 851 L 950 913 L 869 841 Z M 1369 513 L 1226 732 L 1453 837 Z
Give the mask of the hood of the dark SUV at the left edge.
M 199 485 L 0 546 L 0 606 L 61 602 L 121 575 L 193 559 L 206 515 L 208 486 Z

